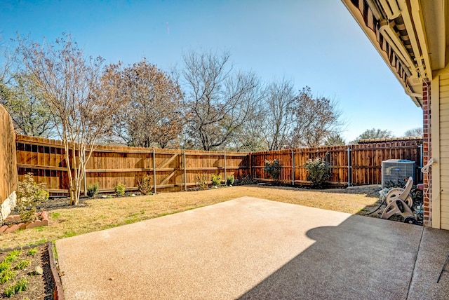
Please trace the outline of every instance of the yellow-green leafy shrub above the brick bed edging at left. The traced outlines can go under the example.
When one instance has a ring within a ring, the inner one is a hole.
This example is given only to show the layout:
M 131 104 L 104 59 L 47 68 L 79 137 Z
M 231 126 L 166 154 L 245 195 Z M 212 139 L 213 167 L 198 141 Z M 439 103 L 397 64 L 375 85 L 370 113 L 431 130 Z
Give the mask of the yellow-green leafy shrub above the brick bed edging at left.
M 44 184 L 36 184 L 32 173 L 27 173 L 25 178 L 18 183 L 17 206 L 22 221 L 34 221 L 36 219 L 36 205 L 48 200 L 48 191 L 43 190 Z

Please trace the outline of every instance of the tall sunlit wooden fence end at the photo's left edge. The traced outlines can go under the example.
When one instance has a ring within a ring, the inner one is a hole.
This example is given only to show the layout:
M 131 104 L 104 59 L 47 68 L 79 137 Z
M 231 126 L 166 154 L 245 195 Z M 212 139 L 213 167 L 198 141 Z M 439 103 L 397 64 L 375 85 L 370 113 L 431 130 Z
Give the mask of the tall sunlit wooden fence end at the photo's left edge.
M 15 191 L 17 182 L 13 120 L 0 104 L 0 204 Z

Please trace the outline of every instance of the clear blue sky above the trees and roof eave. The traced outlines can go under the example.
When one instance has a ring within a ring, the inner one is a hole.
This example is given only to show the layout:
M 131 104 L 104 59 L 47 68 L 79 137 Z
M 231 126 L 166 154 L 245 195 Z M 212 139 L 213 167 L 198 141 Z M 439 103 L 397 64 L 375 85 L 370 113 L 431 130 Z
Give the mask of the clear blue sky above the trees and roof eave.
M 401 136 L 422 126 L 410 100 L 339 0 L 0 1 L 2 41 L 70 33 L 88 55 L 162 69 L 182 53 L 229 50 L 236 69 L 263 81 L 291 79 L 297 90 L 335 97 L 349 142 L 369 128 Z

